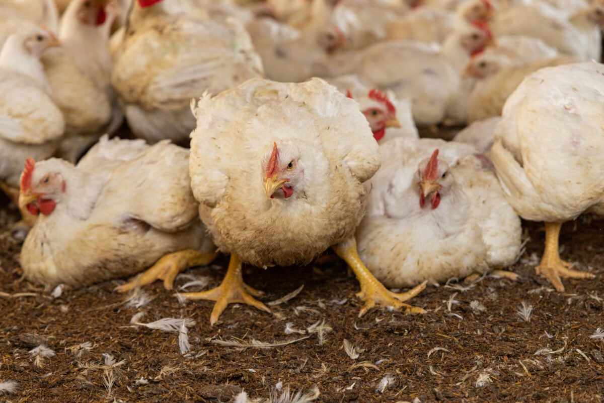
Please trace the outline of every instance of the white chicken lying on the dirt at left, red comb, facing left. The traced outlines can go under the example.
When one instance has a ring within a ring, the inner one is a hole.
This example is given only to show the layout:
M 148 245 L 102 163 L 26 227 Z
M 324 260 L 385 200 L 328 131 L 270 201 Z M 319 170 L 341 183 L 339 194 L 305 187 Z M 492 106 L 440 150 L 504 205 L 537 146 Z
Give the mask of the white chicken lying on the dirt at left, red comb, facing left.
M 170 289 L 181 269 L 211 262 L 216 248 L 199 220 L 188 155 L 167 141 L 104 136 L 77 166 L 28 159 L 19 204 L 40 215 L 21 251 L 25 278 L 83 286 L 155 263 Z

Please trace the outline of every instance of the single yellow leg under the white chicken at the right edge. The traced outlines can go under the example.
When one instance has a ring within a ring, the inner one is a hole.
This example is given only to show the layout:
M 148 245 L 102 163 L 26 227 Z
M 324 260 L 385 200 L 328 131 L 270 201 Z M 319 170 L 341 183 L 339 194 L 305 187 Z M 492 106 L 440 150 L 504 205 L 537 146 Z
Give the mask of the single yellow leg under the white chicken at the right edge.
M 571 264 L 560 259 L 558 253 L 558 237 L 560 236 L 561 222 L 545 223 L 545 250 L 541 257 L 541 263 L 535 268 L 535 272 L 550 280 L 557 291 L 564 291 L 564 285 L 560 277 L 570 279 L 593 279 L 591 273 L 571 269 Z

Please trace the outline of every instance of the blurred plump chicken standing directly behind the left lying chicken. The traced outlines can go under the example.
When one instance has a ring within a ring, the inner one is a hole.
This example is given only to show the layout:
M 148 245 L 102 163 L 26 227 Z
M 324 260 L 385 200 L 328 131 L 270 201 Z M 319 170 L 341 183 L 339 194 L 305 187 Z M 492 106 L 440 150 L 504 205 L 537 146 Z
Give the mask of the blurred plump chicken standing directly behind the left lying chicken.
M 188 144 L 195 127 L 191 98 L 262 76 L 262 62 L 235 19 L 171 14 L 163 2 L 144 10 L 135 4 L 111 82 L 133 134 L 149 143 L 169 138 Z

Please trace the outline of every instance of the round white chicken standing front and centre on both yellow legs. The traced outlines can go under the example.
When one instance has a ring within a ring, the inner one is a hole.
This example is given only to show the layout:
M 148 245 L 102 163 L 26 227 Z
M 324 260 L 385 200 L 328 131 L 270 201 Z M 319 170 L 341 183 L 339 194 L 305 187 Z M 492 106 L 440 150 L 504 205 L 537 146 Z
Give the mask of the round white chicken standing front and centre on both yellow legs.
M 231 254 L 218 288 L 183 294 L 216 300 L 210 323 L 231 302 L 270 312 L 243 283 L 242 263 L 303 265 L 329 247 L 361 283 L 361 315 L 376 304 L 423 312 L 402 301 L 425 285 L 394 294 L 356 253 L 362 182 L 379 167 L 377 142 L 356 102 L 320 79 L 252 79 L 214 98 L 205 94 L 193 110 L 191 188 L 214 242 Z

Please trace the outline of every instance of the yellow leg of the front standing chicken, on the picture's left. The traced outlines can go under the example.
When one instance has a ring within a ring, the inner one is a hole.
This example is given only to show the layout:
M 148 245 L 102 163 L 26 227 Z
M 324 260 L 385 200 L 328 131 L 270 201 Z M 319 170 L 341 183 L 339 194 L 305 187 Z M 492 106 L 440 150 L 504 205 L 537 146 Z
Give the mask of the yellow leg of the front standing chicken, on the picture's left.
M 184 292 L 183 297 L 190 300 L 212 300 L 216 301 L 214 309 L 210 315 L 210 325 L 213 326 L 220 314 L 226 309 L 230 303 L 244 303 L 260 309 L 260 311 L 271 313 L 266 305 L 254 297 L 259 297 L 263 294 L 262 291 L 251 288 L 243 282 L 241 260 L 235 254 L 231 253 L 231 260 L 228 264 L 226 276 L 219 286 L 202 292 Z

